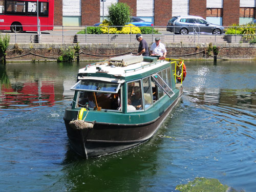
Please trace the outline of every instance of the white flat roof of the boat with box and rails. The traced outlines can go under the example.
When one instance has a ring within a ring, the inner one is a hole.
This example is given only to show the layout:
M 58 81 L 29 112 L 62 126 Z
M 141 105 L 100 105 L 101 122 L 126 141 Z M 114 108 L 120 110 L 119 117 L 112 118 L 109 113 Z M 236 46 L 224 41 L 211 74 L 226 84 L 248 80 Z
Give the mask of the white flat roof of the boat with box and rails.
M 146 58 L 146 59 L 145 59 Z M 155 70 L 168 64 L 168 61 L 157 60 L 157 57 L 148 59 L 149 57 L 124 55 L 120 57 L 114 57 L 109 60 L 93 63 L 85 68 L 79 69 L 79 74 L 109 74 L 118 77 L 129 77 L 138 74 L 142 74 L 148 71 Z M 130 59 L 130 60 L 129 60 Z M 120 62 L 118 61 L 120 60 Z M 133 60 L 133 61 L 131 61 Z M 147 60 L 147 61 L 145 61 Z M 153 62 L 152 62 L 153 60 Z M 133 63 L 130 63 L 133 62 Z M 121 66 L 121 67 L 119 67 Z M 97 75 L 98 76 L 98 75 Z M 103 76 L 103 75 L 102 75 Z M 78 77 L 78 79 L 87 79 L 86 77 Z

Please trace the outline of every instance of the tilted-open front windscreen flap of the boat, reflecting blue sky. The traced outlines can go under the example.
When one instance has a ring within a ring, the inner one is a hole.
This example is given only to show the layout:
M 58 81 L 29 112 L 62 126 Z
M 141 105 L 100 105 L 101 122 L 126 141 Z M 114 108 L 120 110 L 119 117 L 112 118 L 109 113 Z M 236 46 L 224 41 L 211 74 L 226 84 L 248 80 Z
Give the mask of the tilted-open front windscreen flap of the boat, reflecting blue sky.
M 117 93 L 120 89 L 120 83 L 80 80 L 70 89 L 80 91 L 96 91 L 102 93 Z

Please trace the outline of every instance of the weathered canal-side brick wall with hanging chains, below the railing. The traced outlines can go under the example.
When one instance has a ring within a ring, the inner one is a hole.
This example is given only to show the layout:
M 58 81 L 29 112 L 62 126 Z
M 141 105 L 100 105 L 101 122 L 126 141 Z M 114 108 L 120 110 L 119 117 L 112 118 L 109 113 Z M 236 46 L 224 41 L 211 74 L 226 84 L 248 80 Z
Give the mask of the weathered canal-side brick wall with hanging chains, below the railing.
M 18 44 L 14 49 L 14 44 L 10 44 L 7 50 L 7 61 L 50 61 L 56 60 L 60 56 L 60 49 L 73 48 L 76 44 Z M 223 59 L 254 59 L 256 56 L 256 45 L 250 44 L 212 44 L 219 47 L 218 57 Z M 79 44 L 81 47 L 80 60 L 100 60 L 113 57 L 117 54 L 137 53 L 138 44 Z M 151 44 L 149 44 L 149 47 Z M 166 43 L 167 58 L 183 59 L 212 59 L 207 58 L 205 50 L 208 44 L 193 43 Z M 29 55 L 26 55 L 31 53 Z M 86 54 L 84 54 L 86 53 Z M 199 53 L 199 54 L 198 54 Z M 18 57 L 26 55 L 23 57 Z M 37 55 L 43 56 L 39 57 Z M 10 57 L 17 57 L 8 59 Z

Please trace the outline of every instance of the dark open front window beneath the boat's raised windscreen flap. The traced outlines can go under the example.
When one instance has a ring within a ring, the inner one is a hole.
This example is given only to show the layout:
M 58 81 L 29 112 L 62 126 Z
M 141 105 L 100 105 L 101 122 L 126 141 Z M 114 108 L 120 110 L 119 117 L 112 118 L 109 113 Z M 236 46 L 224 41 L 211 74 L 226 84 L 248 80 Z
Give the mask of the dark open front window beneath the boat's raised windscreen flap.
M 121 91 L 118 93 L 101 93 L 101 92 L 89 92 L 79 91 L 77 107 L 87 107 L 89 109 L 101 109 L 101 110 L 118 110 L 121 111 Z

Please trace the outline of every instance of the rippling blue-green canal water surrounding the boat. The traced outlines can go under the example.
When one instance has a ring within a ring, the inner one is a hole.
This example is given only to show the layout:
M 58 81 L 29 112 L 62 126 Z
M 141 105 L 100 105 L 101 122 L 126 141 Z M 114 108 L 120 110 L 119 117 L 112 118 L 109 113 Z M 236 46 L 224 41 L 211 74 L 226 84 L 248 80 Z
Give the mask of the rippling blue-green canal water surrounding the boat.
M 175 191 L 196 177 L 256 191 L 255 61 L 186 61 L 184 94 L 156 135 L 88 160 L 63 122 L 86 65 L 0 66 L 1 191 Z

